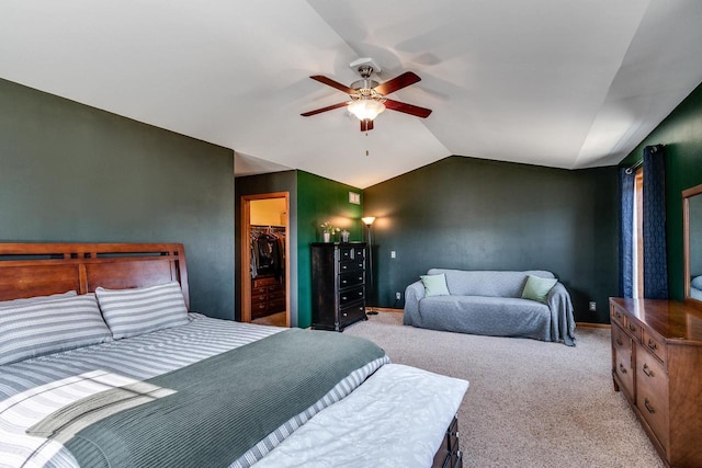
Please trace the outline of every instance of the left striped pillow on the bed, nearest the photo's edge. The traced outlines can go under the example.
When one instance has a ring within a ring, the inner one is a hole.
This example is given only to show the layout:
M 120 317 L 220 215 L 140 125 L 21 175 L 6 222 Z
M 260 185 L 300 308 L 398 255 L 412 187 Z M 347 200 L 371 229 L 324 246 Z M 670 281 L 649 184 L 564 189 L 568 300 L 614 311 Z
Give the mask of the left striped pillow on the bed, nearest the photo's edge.
M 0 365 L 109 340 L 93 294 L 0 308 Z

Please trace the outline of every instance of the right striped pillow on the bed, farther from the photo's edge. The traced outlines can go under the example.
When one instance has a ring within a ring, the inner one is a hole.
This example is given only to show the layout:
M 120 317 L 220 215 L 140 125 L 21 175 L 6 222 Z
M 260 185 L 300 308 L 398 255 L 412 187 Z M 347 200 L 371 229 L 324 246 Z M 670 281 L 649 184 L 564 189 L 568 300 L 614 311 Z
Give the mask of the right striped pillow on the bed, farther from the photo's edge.
M 115 340 L 189 323 L 178 282 L 133 289 L 98 287 L 95 295 Z

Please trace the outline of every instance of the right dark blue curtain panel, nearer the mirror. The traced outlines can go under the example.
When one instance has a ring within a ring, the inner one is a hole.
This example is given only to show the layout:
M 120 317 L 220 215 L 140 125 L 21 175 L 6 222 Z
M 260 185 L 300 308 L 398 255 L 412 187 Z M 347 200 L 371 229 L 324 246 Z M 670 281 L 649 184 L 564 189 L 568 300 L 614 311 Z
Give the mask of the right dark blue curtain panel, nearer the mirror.
M 644 148 L 644 296 L 668 298 L 666 184 L 663 145 Z

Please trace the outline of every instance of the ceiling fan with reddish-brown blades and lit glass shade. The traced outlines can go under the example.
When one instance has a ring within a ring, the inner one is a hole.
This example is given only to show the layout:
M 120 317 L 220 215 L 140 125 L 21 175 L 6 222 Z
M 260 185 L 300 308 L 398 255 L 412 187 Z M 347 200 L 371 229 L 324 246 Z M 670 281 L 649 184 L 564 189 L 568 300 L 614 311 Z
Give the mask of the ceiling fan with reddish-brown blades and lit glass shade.
M 356 69 L 359 75 L 361 75 L 361 80 L 354 81 L 350 87 L 341 84 L 338 81 L 335 81 L 321 75 L 315 75 L 309 78 L 335 88 L 339 91 L 343 91 L 344 93 L 349 94 L 351 101 L 340 102 L 327 107 L 305 112 L 301 114 L 303 117 L 309 117 L 310 115 L 317 115 L 322 112 L 348 106 L 349 112 L 351 112 L 359 118 L 359 121 L 361 121 L 361 132 L 369 132 L 373 129 L 373 119 L 386 109 L 389 109 L 390 111 L 404 112 L 405 114 L 415 115 L 421 118 L 427 118 L 429 114 L 431 114 L 430 109 L 424 109 L 418 105 L 407 104 L 386 98 L 387 94 L 421 81 L 421 78 L 419 78 L 416 73 L 406 71 L 403 75 L 393 78 L 392 80 L 385 81 L 384 83 L 378 83 L 377 81 L 371 79 L 371 75 L 374 71 L 376 73 L 380 73 L 382 71 L 381 67 L 378 67 L 373 61 L 373 59 L 361 58 L 349 64 L 349 66 Z

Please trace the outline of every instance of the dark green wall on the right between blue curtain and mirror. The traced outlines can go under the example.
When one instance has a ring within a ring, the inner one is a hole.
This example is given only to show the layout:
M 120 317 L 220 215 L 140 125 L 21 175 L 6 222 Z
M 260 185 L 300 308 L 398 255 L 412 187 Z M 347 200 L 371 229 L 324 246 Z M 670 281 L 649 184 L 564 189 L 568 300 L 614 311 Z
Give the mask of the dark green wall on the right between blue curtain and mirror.
M 666 117 L 621 163 L 643 158 L 644 147 L 666 145 L 666 232 L 671 299 L 683 297 L 682 198 L 686 189 L 702 184 L 702 84 Z

